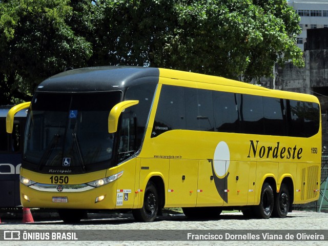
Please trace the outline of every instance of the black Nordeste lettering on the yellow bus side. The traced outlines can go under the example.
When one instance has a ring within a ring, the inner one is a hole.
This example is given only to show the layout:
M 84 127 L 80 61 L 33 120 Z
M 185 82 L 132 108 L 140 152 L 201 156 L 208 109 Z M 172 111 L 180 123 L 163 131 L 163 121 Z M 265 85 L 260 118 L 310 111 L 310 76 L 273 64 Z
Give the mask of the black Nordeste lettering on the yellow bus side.
M 248 158 L 259 157 L 259 158 L 273 158 L 273 159 L 301 159 L 302 148 L 298 148 L 297 145 L 294 147 L 280 146 L 280 142 L 277 142 L 274 146 L 264 146 L 259 143 L 259 140 L 255 142 L 250 140 L 250 149 L 248 152 Z

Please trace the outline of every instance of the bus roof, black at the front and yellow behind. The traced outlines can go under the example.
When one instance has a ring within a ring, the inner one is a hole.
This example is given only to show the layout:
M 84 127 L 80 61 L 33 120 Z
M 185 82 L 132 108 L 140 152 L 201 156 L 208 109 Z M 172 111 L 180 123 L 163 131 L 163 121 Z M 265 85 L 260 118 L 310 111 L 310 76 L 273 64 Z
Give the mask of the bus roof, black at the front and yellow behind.
M 188 86 L 183 80 L 204 84 L 220 85 L 223 88 L 241 88 L 250 94 L 260 94 L 271 97 L 299 98 L 301 100 L 318 101 L 309 94 L 270 90 L 241 81 L 218 76 L 203 75 L 192 72 L 183 72 L 172 69 L 132 67 L 132 66 L 105 66 L 68 70 L 44 80 L 37 92 L 96 92 L 124 90 L 131 85 L 153 83 L 157 84 L 161 78 L 173 78 L 176 85 Z M 222 89 L 223 89 L 222 88 Z M 235 89 L 230 89 L 235 91 Z M 251 92 L 252 91 L 252 92 Z

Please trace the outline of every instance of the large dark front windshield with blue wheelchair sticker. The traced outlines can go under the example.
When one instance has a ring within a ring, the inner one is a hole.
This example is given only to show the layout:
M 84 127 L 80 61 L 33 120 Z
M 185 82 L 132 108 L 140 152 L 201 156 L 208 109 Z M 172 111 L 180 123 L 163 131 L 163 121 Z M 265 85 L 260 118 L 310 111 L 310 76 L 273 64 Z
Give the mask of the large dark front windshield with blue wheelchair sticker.
M 80 168 L 109 161 L 114 134 L 108 115 L 120 91 L 103 93 L 38 93 L 31 103 L 24 161 L 34 168 Z

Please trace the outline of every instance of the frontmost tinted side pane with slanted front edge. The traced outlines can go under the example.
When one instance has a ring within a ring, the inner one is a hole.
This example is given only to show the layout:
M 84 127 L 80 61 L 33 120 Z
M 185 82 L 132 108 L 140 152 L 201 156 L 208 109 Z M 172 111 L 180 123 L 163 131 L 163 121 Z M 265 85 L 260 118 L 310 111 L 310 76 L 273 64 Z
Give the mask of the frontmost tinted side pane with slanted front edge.
M 174 129 L 186 129 L 185 88 L 163 85 L 158 100 L 152 137 Z

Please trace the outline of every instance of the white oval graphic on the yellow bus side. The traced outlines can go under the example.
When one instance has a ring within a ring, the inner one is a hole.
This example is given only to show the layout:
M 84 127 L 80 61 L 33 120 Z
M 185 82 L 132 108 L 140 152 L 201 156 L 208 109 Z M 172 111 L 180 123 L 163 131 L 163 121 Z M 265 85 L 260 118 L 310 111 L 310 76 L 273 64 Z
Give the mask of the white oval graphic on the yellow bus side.
M 226 142 L 221 141 L 216 146 L 213 162 L 214 162 L 214 171 L 217 174 L 217 176 L 219 177 L 224 176 L 230 164 L 230 151 Z

